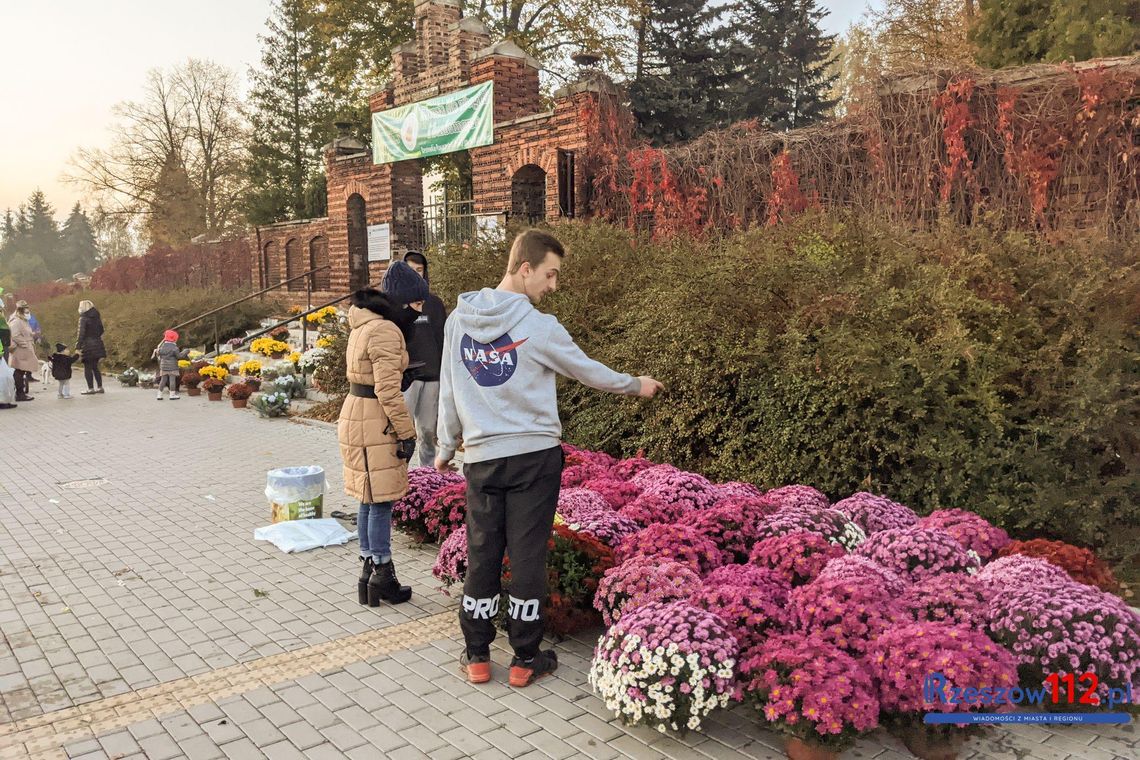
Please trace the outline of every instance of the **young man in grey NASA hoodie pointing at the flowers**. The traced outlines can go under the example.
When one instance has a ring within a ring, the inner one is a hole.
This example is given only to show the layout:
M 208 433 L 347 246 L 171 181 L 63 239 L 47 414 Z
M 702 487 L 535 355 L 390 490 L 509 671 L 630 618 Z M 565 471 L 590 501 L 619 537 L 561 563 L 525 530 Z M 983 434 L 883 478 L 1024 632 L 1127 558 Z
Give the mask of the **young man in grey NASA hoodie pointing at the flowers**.
M 528 686 L 557 668 L 555 653 L 539 649 L 546 542 L 562 482 L 556 376 L 643 398 L 663 387 L 652 377 L 624 375 L 594 361 L 555 317 L 535 309 L 557 289 L 564 255 L 551 235 L 520 234 L 503 281 L 462 294 L 443 332 L 435 468 L 447 471 L 462 438 L 467 575 L 459 610 L 466 648 L 459 662 L 473 684 L 491 677 L 504 551 L 511 557 L 511 685 Z

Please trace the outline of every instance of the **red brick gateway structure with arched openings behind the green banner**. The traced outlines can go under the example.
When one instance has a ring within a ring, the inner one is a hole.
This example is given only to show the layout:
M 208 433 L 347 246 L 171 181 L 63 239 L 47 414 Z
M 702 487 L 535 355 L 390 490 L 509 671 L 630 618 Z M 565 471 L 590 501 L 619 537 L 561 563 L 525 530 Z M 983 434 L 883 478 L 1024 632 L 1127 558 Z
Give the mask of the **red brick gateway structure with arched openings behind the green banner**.
M 511 179 L 529 164 L 545 173 L 545 211 L 548 218 L 559 215 L 557 150 L 585 147 L 585 132 L 578 114 L 584 98 L 595 95 L 570 90 L 555 99 L 553 111 L 543 112 L 538 82 L 539 65 L 516 44 L 490 43 L 483 25 L 462 17 L 462 0 L 417 0 L 416 35 L 397 47 L 392 54 L 392 80 L 369 97 L 372 112 L 416 103 L 437 95 L 481 82 L 495 82 L 495 145 L 471 150 L 477 213 L 510 212 Z M 420 238 L 410 221 L 409 210 L 423 204 L 423 177 L 416 161 L 375 165 L 365 146 L 341 137 L 325 150 L 328 179 L 328 216 L 300 222 L 258 228 L 254 281 L 272 283 L 285 279 L 285 252 L 291 240 L 300 246 L 300 258 L 310 262 L 312 240 L 327 240 L 331 272 L 321 280 L 327 287 L 314 295 L 314 302 L 327 301 L 348 293 L 363 283 L 376 284 L 386 263 L 375 262 L 360 269 L 353 261 L 357 252 L 366 260 L 366 238 L 351 235 L 349 199 L 364 201 L 364 224 L 388 222 L 392 230 L 392 255 L 398 259 Z M 579 177 L 579 186 L 585 178 Z M 584 195 L 579 191 L 578 197 Z M 264 261 L 263 252 L 269 251 Z M 350 251 L 351 248 L 351 251 Z M 294 256 L 294 265 L 298 256 Z M 308 269 L 308 267 L 306 267 Z M 366 271 L 365 271 L 366 270 Z M 283 291 L 284 292 L 284 291 Z M 294 301 L 304 299 L 303 289 L 290 292 Z

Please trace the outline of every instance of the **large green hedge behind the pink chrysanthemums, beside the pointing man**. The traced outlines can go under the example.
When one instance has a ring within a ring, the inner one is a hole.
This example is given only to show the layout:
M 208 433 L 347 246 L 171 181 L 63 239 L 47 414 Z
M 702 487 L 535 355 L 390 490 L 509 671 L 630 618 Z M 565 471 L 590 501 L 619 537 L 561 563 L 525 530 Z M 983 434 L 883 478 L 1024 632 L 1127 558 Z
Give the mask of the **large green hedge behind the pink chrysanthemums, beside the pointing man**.
M 711 240 L 555 228 L 543 304 L 652 402 L 562 387 L 568 441 L 765 487 L 966 507 L 1020 537 L 1140 544 L 1140 273 L 1123 244 L 807 215 Z M 432 261 L 449 303 L 503 250 Z M 1112 551 L 1119 555 L 1121 551 Z

